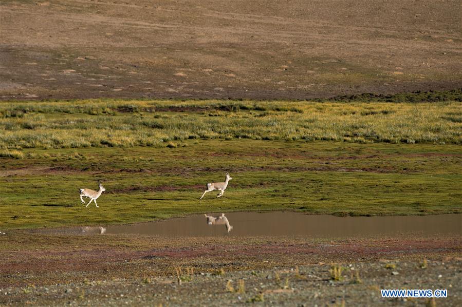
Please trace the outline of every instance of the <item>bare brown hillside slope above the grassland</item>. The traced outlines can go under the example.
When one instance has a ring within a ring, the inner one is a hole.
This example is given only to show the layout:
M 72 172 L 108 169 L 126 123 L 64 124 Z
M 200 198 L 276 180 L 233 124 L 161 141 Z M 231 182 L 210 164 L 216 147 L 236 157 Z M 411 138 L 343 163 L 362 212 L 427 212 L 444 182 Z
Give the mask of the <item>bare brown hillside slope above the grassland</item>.
M 13 1 L 0 100 L 307 99 L 462 86 L 455 1 Z

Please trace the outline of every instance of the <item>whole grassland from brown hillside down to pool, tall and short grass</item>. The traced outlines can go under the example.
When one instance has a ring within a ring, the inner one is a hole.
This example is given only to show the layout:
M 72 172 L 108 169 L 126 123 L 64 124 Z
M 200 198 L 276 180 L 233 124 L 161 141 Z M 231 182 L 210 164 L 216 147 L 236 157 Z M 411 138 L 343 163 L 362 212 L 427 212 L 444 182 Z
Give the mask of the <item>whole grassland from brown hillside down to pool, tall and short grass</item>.
M 459 102 L 0 106 L 4 229 L 233 210 L 462 212 Z M 199 201 L 225 171 L 234 178 L 225 196 Z M 99 180 L 100 208 L 85 208 L 78 188 Z

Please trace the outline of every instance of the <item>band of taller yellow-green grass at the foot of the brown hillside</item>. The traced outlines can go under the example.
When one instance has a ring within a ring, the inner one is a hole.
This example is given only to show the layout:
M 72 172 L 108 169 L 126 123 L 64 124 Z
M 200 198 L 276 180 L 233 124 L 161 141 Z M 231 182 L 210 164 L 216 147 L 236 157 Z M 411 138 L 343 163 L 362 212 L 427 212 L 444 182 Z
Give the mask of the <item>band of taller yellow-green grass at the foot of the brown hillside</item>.
M 0 103 L 0 149 L 177 147 L 191 139 L 462 144 L 462 103 Z M 15 154 L 17 158 L 21 155 Z

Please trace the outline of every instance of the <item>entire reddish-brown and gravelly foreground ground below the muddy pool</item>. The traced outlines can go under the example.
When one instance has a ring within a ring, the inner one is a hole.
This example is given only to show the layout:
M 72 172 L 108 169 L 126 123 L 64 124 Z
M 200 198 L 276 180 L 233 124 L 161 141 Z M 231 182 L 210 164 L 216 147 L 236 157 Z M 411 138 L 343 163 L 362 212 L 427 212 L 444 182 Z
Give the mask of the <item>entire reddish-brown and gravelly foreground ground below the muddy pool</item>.
M 461 243 L 416 235 L 211 240 L 13 232 L 0 237 L 0 304 L 455 306 L 462 303 Z M 333 264 L 342 267 L 340 280 L 332 279 Z M 447 289 L 448 298 L 384 299 L 380 289 Z

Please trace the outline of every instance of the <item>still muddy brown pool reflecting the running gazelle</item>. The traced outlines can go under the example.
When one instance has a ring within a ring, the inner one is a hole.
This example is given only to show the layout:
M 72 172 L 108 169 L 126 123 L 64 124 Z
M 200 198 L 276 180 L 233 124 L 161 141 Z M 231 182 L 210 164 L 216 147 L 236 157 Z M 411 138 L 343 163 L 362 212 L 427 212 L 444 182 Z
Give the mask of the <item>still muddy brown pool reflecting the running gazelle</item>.
M 218 217 L 219 214 L 213 216 Z M 294 212 L 227 213 L 233 226 L 208 225 L 204 215 L 133 225 L 107 226 L 106 234 L 162 236 L 310 236 L 356 237 L 411 234 L 462 235 L 462 215 L 335 217 Z

